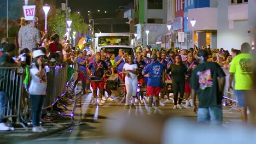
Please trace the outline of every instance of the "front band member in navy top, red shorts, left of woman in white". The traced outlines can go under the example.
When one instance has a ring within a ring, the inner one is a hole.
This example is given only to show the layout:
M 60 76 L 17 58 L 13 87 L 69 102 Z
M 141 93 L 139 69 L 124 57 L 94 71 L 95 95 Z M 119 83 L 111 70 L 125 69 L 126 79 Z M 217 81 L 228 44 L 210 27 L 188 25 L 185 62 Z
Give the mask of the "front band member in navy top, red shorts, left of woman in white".
M 92 104 L 93 105 L 103 105 L 102 103 L 105 103 L 104 100 L 102 100 L 103 95 L 103 89 L 104 89 L 104 82 L 103 79 L 106 77 L 106 74 L 104 73 L 104 70 L 108 72 L 108 66 L 106 62 L 101 61 L 101 53 L 96 52 L 96 60 L 93 59 L 90 64 L 88 65 L 88 75 L 91 79 L 91 87 L 92 87 Z M 97 100 L 97 88 L 100 89 L 100 93 L 98 95 Z

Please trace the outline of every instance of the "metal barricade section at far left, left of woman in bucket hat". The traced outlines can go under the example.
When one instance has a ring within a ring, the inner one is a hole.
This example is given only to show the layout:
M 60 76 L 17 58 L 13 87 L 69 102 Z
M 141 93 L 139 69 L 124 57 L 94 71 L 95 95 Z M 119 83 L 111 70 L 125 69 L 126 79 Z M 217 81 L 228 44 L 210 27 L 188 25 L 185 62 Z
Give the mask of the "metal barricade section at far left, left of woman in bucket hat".
M 24 70 L 19 67 L 0 67 L 0 91 L 2 93 L 0 97 L 4 97 L 3 104 L 5 105 L 5 108 L 0 107 L 0 111 L 3 112 L 0 118 L 16 118 L 15 123 L 21 124 L 27 130 L 25 124 L 20 122 L 21 116 L 29 112 L 27 109 L 28 95 L 22 95 L 24 75 Z

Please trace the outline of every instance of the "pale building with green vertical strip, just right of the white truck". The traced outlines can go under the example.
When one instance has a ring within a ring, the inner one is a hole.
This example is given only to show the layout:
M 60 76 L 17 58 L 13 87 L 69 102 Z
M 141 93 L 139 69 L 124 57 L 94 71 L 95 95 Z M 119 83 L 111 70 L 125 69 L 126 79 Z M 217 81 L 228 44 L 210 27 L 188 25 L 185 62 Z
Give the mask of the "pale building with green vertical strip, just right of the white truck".
M 158 37 L 167 33 L 167 0 L 135 0 L 134 9 L 137 45 L 146 46 L 148 41 L 156 46 Z

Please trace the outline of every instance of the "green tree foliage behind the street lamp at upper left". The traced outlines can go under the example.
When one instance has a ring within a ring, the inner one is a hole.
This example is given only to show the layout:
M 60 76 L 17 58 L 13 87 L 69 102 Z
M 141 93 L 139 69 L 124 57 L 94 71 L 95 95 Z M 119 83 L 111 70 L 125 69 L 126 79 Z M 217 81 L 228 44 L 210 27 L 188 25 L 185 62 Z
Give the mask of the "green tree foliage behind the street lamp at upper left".
M 65 10 L 57 10 L 58 12 L 54 16 L 49 16 L 48 28 L 49 35 L 57 33 L 64 35 L 66 33 L 66 14 Z M 82 15 L 74 12 L 68 14 L 68 19 L 72 20 L 71 32 L 83 32 L 87 30 L 87 24 L 84 22 Z

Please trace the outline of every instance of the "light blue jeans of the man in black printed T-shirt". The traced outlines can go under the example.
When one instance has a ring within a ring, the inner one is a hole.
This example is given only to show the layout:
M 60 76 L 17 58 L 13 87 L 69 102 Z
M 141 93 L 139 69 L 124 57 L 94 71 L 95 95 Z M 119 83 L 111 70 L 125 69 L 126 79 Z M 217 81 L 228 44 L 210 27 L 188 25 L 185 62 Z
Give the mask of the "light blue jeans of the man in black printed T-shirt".
M 197 110 L 197 122 L 219 124 L 223 122 L 222 105 L 199 108 Z

